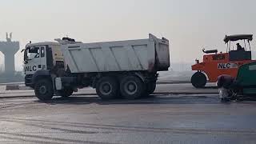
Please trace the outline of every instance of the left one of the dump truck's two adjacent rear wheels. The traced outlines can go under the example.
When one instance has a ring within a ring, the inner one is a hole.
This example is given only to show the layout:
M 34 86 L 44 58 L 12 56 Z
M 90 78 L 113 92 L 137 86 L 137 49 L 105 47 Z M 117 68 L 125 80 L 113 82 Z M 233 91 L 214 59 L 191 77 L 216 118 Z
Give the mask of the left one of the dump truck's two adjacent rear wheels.
M 100 78 L 96 84 L 96 92 L 104 100 L 116 98 L 118 96 L 118 82 L 111 77 Z

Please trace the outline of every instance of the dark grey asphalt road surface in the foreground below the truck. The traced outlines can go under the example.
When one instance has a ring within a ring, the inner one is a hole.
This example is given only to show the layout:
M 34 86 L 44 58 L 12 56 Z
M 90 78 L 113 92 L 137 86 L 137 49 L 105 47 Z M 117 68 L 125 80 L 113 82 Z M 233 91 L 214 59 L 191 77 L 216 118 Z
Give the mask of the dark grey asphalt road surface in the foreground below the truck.
M 158 90 L 164 87 L 172 88 Z M 0 99 L 0 143 L 254 144 L 255 122 L 256 102 L 223 104 L 218 94 L 154 94 L 107 102 L 95 94 L 50 102 Z

